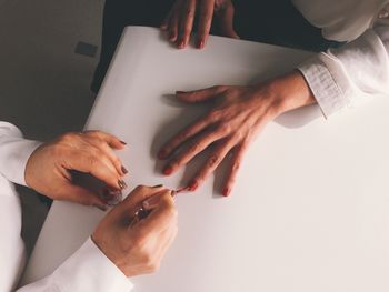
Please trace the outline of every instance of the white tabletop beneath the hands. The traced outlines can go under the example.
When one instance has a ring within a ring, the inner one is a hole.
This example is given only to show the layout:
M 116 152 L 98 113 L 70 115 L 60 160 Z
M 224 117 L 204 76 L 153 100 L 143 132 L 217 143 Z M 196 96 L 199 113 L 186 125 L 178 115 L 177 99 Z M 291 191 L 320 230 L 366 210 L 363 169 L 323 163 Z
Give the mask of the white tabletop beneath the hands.
M 288 71 L 309 53 L 211 37 L 177 50 L 150 28 L 124 31 L 87 129 L 127 141 L 127 183 L 176 188 L 156 152 L 205 111 L 171 101 L 176 90 L 246 84 Z M 376 99 L 330 120 L 311 107 L 280 117 L 252 143 L 230 198 L 217 172 L 179 197 L 179 234 L 160 271 L 134 291 L 389 291 L 389 101 Z M 317 119 L 312 119 L 316 118 Z M 201 160 L 201 158 L 200 158 Z M 51 273 L 103 213 L 54 202 L 23 282 Z

